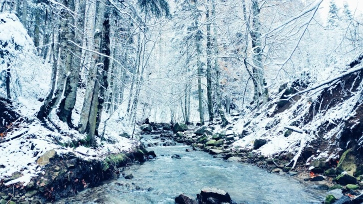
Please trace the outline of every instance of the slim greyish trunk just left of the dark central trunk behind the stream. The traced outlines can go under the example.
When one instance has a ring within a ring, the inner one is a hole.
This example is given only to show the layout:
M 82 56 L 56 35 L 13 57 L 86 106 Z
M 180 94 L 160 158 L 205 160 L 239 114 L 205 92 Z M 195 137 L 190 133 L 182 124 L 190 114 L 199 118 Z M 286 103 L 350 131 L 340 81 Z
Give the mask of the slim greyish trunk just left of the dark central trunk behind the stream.
M 198 29 L 196 34 L 196 54 L 197 54 L 197 72 L 198 72 L 198 103 L 199 103 L 199 119 L 200 124 L 204 124 L 203 98 L 201 95 L 201 61 L 200 61 L 200 40 L 201 31 Z

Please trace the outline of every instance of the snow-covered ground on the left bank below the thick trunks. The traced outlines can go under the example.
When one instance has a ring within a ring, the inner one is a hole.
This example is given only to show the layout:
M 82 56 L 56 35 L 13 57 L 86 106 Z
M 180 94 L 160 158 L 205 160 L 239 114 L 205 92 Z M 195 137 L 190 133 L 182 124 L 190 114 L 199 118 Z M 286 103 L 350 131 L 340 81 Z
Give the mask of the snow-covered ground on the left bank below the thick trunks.
M 112 143 L 106 141 L 100 141 L 97 138 L 99 146 L 93 147 L 65 147 L 64 144 L 76 142 L 81 139 L 85 139 L 84 134 L 79 134 L 74 129 L 67 128 L 67 125 L 62 124 L 61 121 L 53 121 L 56 125 L 62 127 L 62 131 L 59 132 L 56 129 L 50 130 L 46 128 L 41 122 L 34 117 L 33 121 L 28 123 L 27 120 L 31 118 L 36 107 L 41 103 L 26 100 L 27 105 L 19 106 L 16 111 L 27 113 L 27 116 L 21 116 L 18 121 L 13 122 L 13 130 L 6 134 L 3 139 L 8 139 L 21 134 L 20 137 L 10 139 L 0 143 L 0 178 L 10 177 L 15 172 L 20 172 L 21 177 L 14 180 L 10 180 L 5 184 L 21 183 L 23 185 L 28 184 L 31 177 L 41 173 L 42 167 L 39 166 L 36 161 L 39 156 L 44 152 L 54 149 L 57 154 L 73 152 L 76 156 L 83 159 L 101 159 L 107 154 L 130 151 L 130 149 L 139 144 L 138 140 L 128 139 L 119 136 L 117 132 L 112 131 L 107 134 L 108 139 L 112 140 Z M 29 109 L 30 104 L 33 104 Z M 21 120 L 21 118 L 26 118 Z M 49 125 L 50 127 L 52 125 Z

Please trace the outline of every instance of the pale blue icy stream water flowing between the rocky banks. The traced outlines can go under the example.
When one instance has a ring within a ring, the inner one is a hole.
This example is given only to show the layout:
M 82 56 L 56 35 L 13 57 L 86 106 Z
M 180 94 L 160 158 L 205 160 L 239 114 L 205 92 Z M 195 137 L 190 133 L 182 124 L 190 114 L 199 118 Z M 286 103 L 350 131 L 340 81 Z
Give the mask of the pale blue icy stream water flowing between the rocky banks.
M 146 135 L 144 142 L 154 142 Z M 148 147 L 157 158 L 124 171 L 133 179 L 120 177 L 87 189 L 58 203 L 174 203 L 185 193 L 196 197 L 204 187 L 217 187 L 237 203 L 321 203 L 324 191 L 288 175 L 268 173 L 239 162 L 227 162 L 200 152 L 185 152 L 185 145 Z M 171 158 L 179 154 L 181 159 Z

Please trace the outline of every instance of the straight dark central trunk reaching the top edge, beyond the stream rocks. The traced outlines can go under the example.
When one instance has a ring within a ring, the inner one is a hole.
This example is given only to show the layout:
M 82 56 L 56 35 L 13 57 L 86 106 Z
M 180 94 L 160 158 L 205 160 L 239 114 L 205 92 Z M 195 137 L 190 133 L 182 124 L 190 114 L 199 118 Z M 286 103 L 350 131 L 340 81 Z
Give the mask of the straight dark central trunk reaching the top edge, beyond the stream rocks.
M 207 4 L 209 3 L 209 0 L 207 0 Z M 209 5 L 207 5 L 209 6 Z M 213 111 L 213 101 L 212 101 L 212 81 L 211 81 L 211 75 L 212 75 L 212 56 L 211 56 L 211 34 L 210 34 L 210 18 L 209 14 L 210 9 L 207 7 L 207 10 L 205 12 L 206 16 L 206 96 L 207 96 L 207 106 L 208 106 L 208 115 L 209 115 L 209 121 L 213 121 L 214 118 L 214 111 Z

